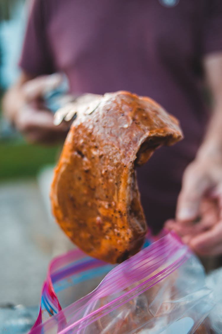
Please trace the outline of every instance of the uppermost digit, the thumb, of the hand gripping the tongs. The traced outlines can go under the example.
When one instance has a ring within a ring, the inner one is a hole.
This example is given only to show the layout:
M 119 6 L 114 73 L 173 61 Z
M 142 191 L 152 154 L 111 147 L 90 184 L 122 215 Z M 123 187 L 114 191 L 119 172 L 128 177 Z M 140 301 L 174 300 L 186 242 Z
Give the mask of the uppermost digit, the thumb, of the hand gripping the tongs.
M 47 92 L 56 89 L 62 80 L 63 75 L 61 73 L 37 76 L 24 83 L 22 92 L 27 101 L 33 101 L 43 97 Z

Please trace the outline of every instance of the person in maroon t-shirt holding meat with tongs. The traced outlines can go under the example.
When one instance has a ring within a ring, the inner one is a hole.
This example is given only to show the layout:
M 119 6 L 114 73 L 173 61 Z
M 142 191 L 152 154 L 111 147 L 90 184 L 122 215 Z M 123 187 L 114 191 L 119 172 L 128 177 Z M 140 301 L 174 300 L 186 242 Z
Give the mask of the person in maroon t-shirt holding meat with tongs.
M 197 254 L 222 254 L 221 1 L 33 0 L 19 64 L 3 108 L 31 142 L 67 133 L 42 104 L 55 72 L 74 95 L 127 90 L 176 116 L 184 140 L 137 170 L 147 223 L 157 233 L 175 216 L 166 227 Z

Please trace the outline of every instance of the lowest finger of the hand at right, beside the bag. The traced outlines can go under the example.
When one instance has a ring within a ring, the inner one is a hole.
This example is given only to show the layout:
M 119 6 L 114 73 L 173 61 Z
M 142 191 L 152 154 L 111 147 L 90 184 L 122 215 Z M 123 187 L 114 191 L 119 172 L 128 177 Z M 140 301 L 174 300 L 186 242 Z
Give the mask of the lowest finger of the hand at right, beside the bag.
M 222 246 L 222 222 L 192 238 L 190 247 L 198 254 L 213 255 Z

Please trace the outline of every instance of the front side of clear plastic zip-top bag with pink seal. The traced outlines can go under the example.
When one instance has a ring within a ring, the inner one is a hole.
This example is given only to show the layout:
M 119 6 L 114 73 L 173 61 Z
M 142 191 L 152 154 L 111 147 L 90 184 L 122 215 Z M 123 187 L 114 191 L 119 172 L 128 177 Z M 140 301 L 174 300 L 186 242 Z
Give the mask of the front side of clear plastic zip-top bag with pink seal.
M 169 233 L 113 268 L 87 296 L 30 334 L 210 333 L 213 308 L 199 260 Z

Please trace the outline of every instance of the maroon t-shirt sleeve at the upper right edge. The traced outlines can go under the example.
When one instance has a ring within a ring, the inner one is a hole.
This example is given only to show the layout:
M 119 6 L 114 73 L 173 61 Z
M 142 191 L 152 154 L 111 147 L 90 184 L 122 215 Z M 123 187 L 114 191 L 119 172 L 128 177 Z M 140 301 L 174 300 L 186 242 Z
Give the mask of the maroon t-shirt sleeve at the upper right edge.
M 203 30 L 203 53 L 222 51 L 222 0 L 208 0 Z

